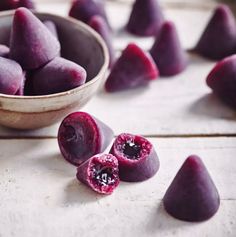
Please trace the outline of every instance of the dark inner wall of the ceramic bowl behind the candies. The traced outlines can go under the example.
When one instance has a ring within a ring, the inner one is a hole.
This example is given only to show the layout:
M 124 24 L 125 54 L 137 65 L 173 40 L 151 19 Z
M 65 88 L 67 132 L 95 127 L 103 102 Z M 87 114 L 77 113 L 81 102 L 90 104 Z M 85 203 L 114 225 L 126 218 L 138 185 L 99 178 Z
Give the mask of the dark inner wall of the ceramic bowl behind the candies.
M 9 45 L 13 13 L 0 16 L 0 44 Z M 87 81 L 93 79 L 104 65 L 104 52 L 101 44 L 85 24 L 72 18 L 64 18 L 46 13 L 35 13 L 41 20 L 53 21 L 61 43 L 61 56 L 69 59 L 87 71 Z M 86 81 L 86 82 L 87 82 Z

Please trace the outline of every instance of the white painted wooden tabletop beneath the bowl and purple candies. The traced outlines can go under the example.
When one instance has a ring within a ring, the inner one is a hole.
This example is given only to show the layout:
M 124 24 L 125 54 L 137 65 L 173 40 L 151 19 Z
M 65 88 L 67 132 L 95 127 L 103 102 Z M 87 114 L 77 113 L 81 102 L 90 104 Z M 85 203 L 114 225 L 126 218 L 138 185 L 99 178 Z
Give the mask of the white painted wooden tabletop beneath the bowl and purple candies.
M 68 12 L 67 1 L 39 2 L 42 11 Z M 152 38 L 118 35 L 130 12 L 129 1 L 121 2 L 107 3 L 117 52 L 129 41 L 150 48 Z M 164 12 L 176 23 L 184 47 L 191 48 L 214 4 L 176 2 L 162 1 Z M 75 179 L 75 168 L 59 153 L 58 124 L 30 132 L 0 127 L 0 237 L 235 237 L 236 113 L 206 86 L 213 65 L 192 55 L 179 76 L 159 79 L 148 89 L 100 91 L 86 105 L 84 111 L 110 125 L 116 135 L 150 138 L 160 158 L 155 177 L 122 182 L 111 196 L 97 195 Z M 178 221 L 162 205 L 168 185 L 190 154 L 202 157 L 221 196 L 218 213 L 203 223 Z

